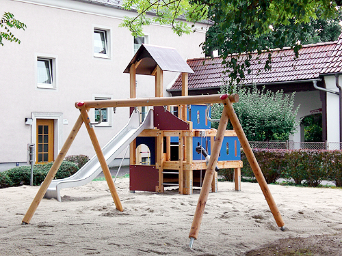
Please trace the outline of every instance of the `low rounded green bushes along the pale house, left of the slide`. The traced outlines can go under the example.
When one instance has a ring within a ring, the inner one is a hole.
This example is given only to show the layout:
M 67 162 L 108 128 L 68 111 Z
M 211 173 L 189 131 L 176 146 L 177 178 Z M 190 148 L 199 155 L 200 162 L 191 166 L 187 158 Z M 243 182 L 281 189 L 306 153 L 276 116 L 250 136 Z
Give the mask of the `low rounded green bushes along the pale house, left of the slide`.
M 48 162 L 47 164 L 34 165 L 34 186 L 39 186 L 44 181 L 52 165 L 53 162 Z M 65 177 L 69 177 L 70 175 L 76 173 L 78 170 L 79 168 L 75 163 L 63 161 L 60 166 L 60 169 L 58 169 L 55 175 L 55 179 L 63 179 Z M 7 171 L 3 171 L 0 173 L 0 188 L 6 188 L 9 186 L 29 185 L 30 178 L 30 166 L 14 167 L 12 169 L 8 169 Z

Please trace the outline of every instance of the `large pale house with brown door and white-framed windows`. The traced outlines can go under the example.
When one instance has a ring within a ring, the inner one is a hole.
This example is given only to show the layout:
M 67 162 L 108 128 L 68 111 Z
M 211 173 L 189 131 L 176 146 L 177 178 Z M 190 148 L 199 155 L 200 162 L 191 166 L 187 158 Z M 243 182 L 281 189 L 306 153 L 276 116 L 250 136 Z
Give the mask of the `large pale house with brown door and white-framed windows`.
M 3 0 L 1 12 L 12 12 L 27 29 L 13 31 L 21 44 L 0 46 L 0 171 L 26 164 L 27 143 L 38 143 L 38 162 L 54 160 L 79 116 L 77 100 L 129 98 L 123 71 L 142 42 L 174 47 L 184 59 L 200 57 L 200 28 L 207 28 L 200 24 L 198 32 L 179 37 L 169 26 L 150 25 L 134 39 L 118 25 L 135 12 L 113 0 Z M 176 76 L 165 72 L 164 84 Z M 137 98 L 153 97 L 154 86 L 152 77 L 138 76 Z M 98 119 L 98 110 L 90 116 Z M 95 128 L 101 145 L 124 126 L 129 109 L 106 109 L 103 117 Z M 94 155 L 85 127 L 70 154 Z

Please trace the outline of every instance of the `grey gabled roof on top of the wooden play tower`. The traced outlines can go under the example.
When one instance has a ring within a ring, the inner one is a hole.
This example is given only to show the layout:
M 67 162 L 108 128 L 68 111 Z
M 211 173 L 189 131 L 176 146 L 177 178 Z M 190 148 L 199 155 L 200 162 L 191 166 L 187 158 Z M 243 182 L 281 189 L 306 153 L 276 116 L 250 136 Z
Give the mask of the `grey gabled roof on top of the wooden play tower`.
M 163 71 L 194 73 L 175 48 L 142 44 L 124 73 L 129 73 L 129 68 L 133 63 L 136 63 L 135 74 L 150 75 L 157 65 Z

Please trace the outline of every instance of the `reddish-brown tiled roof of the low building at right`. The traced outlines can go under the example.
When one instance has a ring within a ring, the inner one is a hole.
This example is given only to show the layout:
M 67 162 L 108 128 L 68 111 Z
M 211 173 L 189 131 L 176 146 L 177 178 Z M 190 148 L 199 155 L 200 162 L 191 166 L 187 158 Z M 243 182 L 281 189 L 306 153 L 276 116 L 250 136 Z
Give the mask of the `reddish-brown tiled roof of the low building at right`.
M 342 34 L 341 34 L 342 35 Z M 250 74 L 245 74 L 241 84 L 283 83 L 287 81 L 304 81 L 317 79 L 321 74 L 342 72 L 342 36 L 335 42 L 325 42 L 304 45 L 295 58 L 293 50 L 285 48 L 272 52 L 272 69 L 264 70 L 268 53 L 252 54 Z M 241 55 L 239 61 L 244 61 L 248 55 Z M 258 58 L 259 57 L 259 58 Z M 189 74 L 189 89 L 220 87 L 228 74 L 224 74 L 222 59 L 200 58 L 188 59 L 187 63 L 194 70 Z M 181 76 L 170 90 L 181 89 Z

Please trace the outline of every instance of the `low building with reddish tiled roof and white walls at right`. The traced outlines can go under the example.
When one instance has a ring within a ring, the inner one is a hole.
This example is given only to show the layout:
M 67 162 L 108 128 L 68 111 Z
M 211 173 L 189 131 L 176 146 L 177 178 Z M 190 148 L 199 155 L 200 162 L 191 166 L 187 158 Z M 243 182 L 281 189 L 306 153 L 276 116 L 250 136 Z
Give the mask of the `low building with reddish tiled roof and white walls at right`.
M 265 86 L 272 91 L 282 89 L 285 93 L 295 91 L 295 106 L 300 104 L 298 121 L 321 112 L 323 141 L 342 142 L 339 89 L 342 85 L 342 35 L 335 42 L 304 45 L 299 53 L 295 58 L 289 48 L 274 50 L 272 69 L 267 71 L 264 66 L 268 53 L 263 53 L 259 59 L 257 54 L 252 54 L 252 72 L 246 74 L 241 85 Z M 246 55 L 242 55 L 241 61 L 245 58 Z M 220 93 L 228 79 L 221 62 L 219 57 L 187 60 L 194 70 L 194 74 L 189 74 L 189 95 Z M 172 96 L 181 95 L 181 79 L 177 79 L 168 91 Z M 298 126 L 297 131 L 290 139 L 304 141 L 304 128 Z

